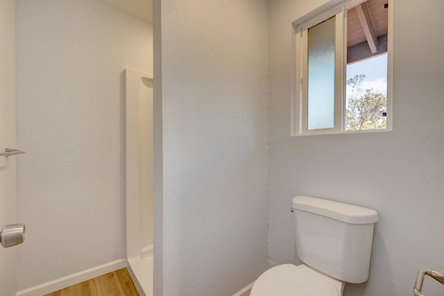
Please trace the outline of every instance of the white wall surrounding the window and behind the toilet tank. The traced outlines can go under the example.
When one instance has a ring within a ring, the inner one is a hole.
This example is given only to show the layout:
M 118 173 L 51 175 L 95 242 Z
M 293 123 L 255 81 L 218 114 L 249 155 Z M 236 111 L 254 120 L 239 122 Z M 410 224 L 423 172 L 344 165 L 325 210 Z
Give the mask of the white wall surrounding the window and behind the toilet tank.
M 370 279 L 345 295 L 412 295 L 418 269 L 444 266 L 444 4 L 394 3 L 393 132 L 291 138 L 291 21 L 324 2 L 269 3 L 269 256 L 298 262 L 294 195 L 359 204 L 380 219 Z M 425 295 L 442 295 L 436 283 L 427 279 Z

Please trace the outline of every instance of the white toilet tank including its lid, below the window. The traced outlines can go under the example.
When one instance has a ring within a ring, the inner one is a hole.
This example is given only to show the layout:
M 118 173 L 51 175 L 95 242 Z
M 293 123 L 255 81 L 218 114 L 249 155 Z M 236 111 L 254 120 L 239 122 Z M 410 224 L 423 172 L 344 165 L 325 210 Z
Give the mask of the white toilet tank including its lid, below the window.
M 293 198 L 296 254 L 311 268 L 341 281 L 359 284 L 368 279 L 373 209 L 309 196 Z

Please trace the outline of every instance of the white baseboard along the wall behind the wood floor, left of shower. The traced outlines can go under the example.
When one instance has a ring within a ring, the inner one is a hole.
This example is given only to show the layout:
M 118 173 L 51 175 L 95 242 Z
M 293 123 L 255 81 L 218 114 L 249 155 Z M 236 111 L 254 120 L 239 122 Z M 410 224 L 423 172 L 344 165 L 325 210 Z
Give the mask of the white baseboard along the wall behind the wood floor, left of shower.
M 66 277 L 60 277 L 60 279 L 54 279 L 53 281 L 48 281 L 44 284 L 33 286 L 24 290 L 17 292 L 17 296 L 42 296 L 49 293 L 53 293 L 62 288 L 67 288 L 69 286 L 81 283 L 82 281 L 87 281 L 88 279 L 93 279 L 94 277 L 100 277 L 105 275 L 105 273 L 112 272 L 126 267 L 126 259 L 119 259 L 103 265 L 96 266 L 94 268 L 89 268 L 80 272 L 76 272 L 72 275 L 67 275 Z

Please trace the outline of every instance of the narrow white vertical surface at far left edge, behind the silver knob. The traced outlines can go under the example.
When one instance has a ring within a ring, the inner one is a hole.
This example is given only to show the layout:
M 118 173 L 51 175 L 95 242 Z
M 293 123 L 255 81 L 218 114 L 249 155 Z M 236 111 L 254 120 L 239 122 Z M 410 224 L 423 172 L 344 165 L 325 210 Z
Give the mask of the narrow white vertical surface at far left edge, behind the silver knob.
M 0 1 L 0 150 L 15 148 L 15 1 Z M 0 157 L 0 231 L 17 223 L 16 158 Z M 0 293 L 17 290 L 17 247 L 0 247 Z

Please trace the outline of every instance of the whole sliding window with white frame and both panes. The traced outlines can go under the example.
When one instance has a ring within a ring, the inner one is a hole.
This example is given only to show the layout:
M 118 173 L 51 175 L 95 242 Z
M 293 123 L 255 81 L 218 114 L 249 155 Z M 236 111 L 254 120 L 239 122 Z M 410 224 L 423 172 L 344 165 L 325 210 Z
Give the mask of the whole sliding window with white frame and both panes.
M 390 0 L 349 0 L 293 22 L 293 135 L 391 130 Z

